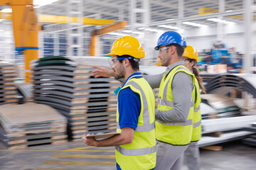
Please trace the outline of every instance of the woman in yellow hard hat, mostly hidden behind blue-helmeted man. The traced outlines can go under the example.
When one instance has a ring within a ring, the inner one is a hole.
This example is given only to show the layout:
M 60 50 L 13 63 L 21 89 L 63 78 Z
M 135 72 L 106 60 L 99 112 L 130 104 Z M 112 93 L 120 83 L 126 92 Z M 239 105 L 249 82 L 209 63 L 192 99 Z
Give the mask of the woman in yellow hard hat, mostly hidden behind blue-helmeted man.
M 200 112 L 200 103 L 201 103 L 201 93 L 200 88 L 203 93 L 206 94 L 206 88 L 203 86 L 203 79 L 199 76 L 199 70 L 194 67 L 195 63 L 198 62 L 198 52 L 191 45 L 187 45 L 183 53 L 184 65 L 193 72 L 195 75 L 195 86 L 196 86 L 196 97 L 195 97 L 195 106 L 193 113 L 193 131 L 191 137 L 191 143 L 188 145 L 188 148 L 184 152 L 184 159 L 188 169 L 190 170 L 199 170 L 200 169 L 200 154 L 198 148 L 198 140 L 201 138 L 201 112 Z

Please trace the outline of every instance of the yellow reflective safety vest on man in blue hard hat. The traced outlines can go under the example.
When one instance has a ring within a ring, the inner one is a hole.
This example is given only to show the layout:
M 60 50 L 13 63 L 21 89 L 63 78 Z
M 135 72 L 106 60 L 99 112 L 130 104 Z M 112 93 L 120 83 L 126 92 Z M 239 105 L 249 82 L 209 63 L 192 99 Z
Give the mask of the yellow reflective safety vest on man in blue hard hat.
M 172 94 L 171 84 L 174 79 L 174 75 L 178 72 L 185 72 L 186 74 L 190 75 L 194 84 L 195 76 L 183 65 L 174 67 L 169 74 L 166 74 L 165 72 L 159 87 L 159 111 L 170 111 L 174 108 L 175 96 Z M 161 120 L 156 120 L 156 140 L 166 142 L 171 145 L 188 145 L 191 142 L 195 98 L 194 85 L 191 93 L 191 102 L 188 103 L 190 110 L 186 122 L 166 123 Z

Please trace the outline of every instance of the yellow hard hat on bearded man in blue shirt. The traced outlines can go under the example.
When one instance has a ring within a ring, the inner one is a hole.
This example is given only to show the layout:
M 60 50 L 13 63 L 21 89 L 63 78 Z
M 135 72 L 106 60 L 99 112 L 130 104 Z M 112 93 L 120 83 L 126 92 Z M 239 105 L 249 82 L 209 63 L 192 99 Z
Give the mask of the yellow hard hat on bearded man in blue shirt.
M 132 36 L 124 36 L 114 41 L 108 55 L 130 55 L 134 58 L 144 58 L 145 52 L 142 43 Z

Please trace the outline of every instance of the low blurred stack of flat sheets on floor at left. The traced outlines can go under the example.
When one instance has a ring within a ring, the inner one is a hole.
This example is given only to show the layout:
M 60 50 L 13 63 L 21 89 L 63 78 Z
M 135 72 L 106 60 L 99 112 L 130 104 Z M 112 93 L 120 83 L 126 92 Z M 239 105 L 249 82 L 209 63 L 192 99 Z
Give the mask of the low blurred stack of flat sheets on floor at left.
M 66 118 L 50 106 L 0 106 L 0 123 L 0 141 L 11 149 L 68 141 Z

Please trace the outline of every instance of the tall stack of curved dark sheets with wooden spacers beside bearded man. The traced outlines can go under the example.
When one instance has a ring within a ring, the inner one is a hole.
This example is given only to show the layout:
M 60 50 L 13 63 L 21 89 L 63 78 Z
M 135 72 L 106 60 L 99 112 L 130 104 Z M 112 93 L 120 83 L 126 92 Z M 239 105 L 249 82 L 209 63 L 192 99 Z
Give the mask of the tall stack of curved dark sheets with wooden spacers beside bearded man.
M 68 118 L 70 140 L 84 133 L 116 130 L 114 78 L 92 77 L 91 65 L 67 57 L 45 57 L 33 63 L 33 100 L 58 109 Z

